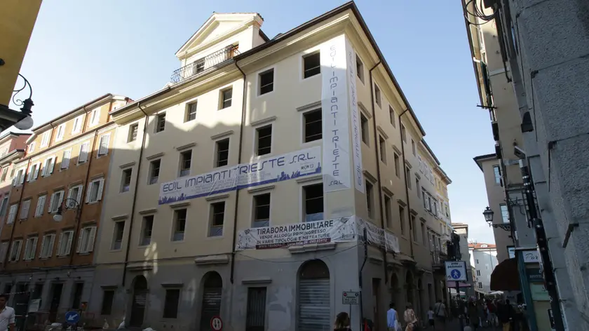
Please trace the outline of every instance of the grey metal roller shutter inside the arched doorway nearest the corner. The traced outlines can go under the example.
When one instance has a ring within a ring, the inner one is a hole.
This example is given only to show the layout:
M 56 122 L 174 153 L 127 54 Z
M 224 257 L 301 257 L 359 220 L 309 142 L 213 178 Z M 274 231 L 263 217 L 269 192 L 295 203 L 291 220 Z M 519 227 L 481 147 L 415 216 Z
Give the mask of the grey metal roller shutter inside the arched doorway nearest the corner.
M 299 280 L 298 331 L 331 331 L 330 278 Z

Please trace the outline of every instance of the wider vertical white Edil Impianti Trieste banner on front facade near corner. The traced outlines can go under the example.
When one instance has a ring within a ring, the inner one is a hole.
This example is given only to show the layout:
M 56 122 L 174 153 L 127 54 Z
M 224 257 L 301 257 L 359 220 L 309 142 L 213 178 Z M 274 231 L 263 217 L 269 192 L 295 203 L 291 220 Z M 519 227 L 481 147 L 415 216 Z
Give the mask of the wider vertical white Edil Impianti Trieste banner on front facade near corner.
M 346 83 L 346 36 L 323 43 L 320 50 L 323 112 L 323 190 L 350 189 L 350 132 Z

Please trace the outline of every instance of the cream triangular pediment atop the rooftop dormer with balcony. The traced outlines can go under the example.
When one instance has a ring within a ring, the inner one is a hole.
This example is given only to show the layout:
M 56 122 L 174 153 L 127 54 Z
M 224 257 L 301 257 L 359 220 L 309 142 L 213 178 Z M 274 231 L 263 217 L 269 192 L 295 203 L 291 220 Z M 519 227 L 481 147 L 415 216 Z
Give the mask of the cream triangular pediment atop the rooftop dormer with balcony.
M 207 48 L 214 43 L 238 34 L 250 25 L 262 25 L 262 16 L 257 13 L 213 13 L 184 45 L 176 52 L 182 59 L 191 53 Z

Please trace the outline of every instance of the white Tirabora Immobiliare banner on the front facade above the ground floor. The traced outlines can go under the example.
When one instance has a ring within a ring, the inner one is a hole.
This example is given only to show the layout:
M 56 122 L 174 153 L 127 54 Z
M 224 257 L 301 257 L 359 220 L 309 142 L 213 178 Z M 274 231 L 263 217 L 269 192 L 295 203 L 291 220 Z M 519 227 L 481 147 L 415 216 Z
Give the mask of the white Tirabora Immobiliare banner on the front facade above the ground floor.
M 355 217 L 339 217 L 239 231 L 236 250 L 286 248 L 311 243 L 357 241 Z

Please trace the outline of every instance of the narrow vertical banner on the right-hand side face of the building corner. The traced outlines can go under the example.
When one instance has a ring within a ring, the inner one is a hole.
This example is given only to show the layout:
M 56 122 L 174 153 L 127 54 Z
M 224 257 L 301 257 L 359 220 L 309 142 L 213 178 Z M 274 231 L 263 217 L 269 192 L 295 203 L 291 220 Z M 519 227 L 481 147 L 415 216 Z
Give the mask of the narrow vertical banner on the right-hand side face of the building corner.
M 354 161 L 353 178 L 356 189 L 364 193 L 364 174 L 362 169 L 362 147 L 360 145 L 360 115 L 356 95 L 356 52 L 346 38 L 346 58 L 348 61 L 348 86 L 350 89 L 350 123 L 352 126 L 352 154 Z

